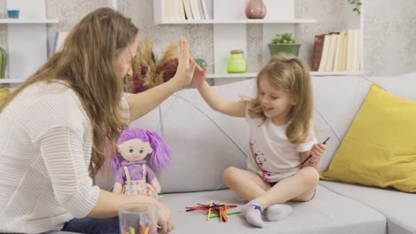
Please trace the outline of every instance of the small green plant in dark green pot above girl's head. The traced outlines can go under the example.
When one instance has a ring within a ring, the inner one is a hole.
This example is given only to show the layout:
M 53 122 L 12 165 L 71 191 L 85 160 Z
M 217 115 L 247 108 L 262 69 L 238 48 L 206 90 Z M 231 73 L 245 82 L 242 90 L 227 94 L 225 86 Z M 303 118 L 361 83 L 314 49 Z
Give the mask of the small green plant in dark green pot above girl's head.
M 296 43 L 296 39 L 292 34 L 284 33 L 275 35 L 271 42 L 268 43 L 268 50 L 270 51 L 270 57 L 284 52 L 299 56 L 300 43 Z

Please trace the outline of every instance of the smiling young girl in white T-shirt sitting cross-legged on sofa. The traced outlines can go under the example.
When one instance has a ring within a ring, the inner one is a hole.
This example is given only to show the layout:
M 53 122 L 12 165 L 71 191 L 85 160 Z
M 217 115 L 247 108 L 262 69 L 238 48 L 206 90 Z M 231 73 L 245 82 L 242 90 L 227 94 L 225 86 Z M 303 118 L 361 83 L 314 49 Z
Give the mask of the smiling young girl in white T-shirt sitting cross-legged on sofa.
M 268 221 L 279 221 L 292 212 L 284 202 L 313 199 L 326 147 L 316 142 L 309 70 L 300 58 L 271 58 L 257 76 L 257 96 L 252 100 L 229 101 L 204 78 L 193 82 L 213 110 L 245 117 L 249 123 L 248 169 L 230 167 L 222 175 L 231 190 L 249 200 L 242 208 L 247 222 L 262 228 L 263 210 Z

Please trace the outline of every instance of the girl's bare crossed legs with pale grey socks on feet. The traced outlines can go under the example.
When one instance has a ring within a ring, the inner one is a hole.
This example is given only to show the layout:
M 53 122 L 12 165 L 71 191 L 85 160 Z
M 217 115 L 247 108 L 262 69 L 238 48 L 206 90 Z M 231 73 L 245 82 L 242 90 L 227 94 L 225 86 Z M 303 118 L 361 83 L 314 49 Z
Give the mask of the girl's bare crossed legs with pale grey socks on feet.
M 315 168 L 301 168 L 298 173 L 271 186 L 260 175 L 240 168 L 227 168 L 222 180 L 228 187 L 250 202 L 243 207 L 243 214 L 252 225 L 262 228 L 262 209 L 266 209 L 268 221 L 284 219 L 292 207 L 284 202 L 308 201 L 315 195 L 319 173 Z

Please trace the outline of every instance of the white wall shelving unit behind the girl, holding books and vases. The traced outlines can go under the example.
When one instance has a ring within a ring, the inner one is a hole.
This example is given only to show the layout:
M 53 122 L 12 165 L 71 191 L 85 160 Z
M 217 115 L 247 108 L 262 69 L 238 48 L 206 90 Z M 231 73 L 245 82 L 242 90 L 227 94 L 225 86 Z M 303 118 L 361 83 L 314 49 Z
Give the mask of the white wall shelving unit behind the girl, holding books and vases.
M 241 0 L 204 0 L 210 12 L 210 20 L 166 20 L 164 19 L 166 0 L 154 0 L 154 20 L 156 25 L 185 25 L 185 24 L 212 24 L 213 25 L 213 54 L 214 74 L 208 74 L 208 78 L 216 79 L 244 79 L 255 77 L 257 73 L 228 74 L 227 59 L 229 51 L 243 49 L 247 51 L 246 24 L 263 25 L 263 62 L 269 59 L 268 42 L 280 33 L 294 34 L 294 27 L 300 23 L 316 23 L 314 19 L 296 19 L 294 17 L 294 0 L 263 0 L 268 8 L 266 17 L 262 20 L 248 20 L 244 14 L 246 2 Z M 232 7 L 231 7 L 232 6 Z M 348 10 L 350 11 L 350 10 Z M 361 14 L 364 6 L 361 7 Z M 360 29 L 364 30 L 364 17 L 360 18 Z M 313 40 L 313 38 L 311 38 Z M 363 37 L 361 38 L 361 51 L 363 51 Z M 361 56 L 361 67 L 364 67 Z M 311 72 L 312 75 L 356 75 L 363 72 Z

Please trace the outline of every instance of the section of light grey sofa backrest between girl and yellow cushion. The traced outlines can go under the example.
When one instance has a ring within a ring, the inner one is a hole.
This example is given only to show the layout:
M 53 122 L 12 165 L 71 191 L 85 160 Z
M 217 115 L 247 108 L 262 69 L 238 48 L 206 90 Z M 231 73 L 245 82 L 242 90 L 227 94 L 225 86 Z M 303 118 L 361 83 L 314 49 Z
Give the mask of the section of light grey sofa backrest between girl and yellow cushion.
M 327 136 L 321 171 L 328 167 L 363 103 L 371 82 L 357 76 L 312 77 L 314 121 L 319 141 Z

